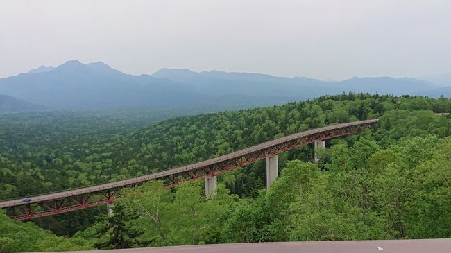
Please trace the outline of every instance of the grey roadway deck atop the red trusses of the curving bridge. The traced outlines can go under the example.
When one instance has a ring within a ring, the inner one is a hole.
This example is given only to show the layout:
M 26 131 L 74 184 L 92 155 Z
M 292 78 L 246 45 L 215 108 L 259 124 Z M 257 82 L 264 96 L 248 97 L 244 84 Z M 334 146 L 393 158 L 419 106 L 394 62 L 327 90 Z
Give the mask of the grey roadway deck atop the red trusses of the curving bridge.
M 308 137 L 312 134 L 318 134 L 321 132 L 329 132 L 331 130 L 337 130 L 337 129 L 341 129 L 341 128 L 349 128 L 352 126 L 371 125 L 373 123 L 377 123 L 377 121 L 378 121 L 378 119 L 371 119 L 371 120 L 366 120 L 366 121 L 355 121 L 355 122 L 342 123 L 342 124 L 337 124 L 337 125 L 328 125 L 323 128 L 316 128 L 313 130 L 307 130 L 304 132 L 298 132 L 296 134 L 291 134 L 287 137 L 282 137 L 279 139 L 275 139 L 273 141 L 266 141 L 264 143 L 260 143 L 255 146 L 251 146 L 250 148 L 244 148 L 242 150 L 231 152 L 227 155 L 222 155 L 220 157 L 214 157 L 212 159 L 207 159 L 203 162 L 198 162 L 195 164 L 189 164 L 189 165 L 181 166 L 178 168 L 172 168 L 167 171 L 161 171 L 158 173 L 142 175 L 139 177 L 132 177 L 128 180 L 120 180 L 117 182 L 109 182 L 109 183 L 97 184 L 97 185 L 93 185 L 93 186 L 85 186 L 85 187 L 78 188 L 78 189 L 71 189 L 71 190 L 60 191 L 60 192 L 56 192 L 56 193 L 35 195 L 32 197 L 32 200 L 30 202 L 25 202 L 25 203 L 20 202 L 20 200 L 22 200 L 23 198 L 3 201 L 3 202 L 0 202 L 0 208 L 16 207 L 16 206 L 22 206 L 24 204 L 33 204 L 33 203 L 38 203 L 38 202 L 48 202 L 51 200 L 60 200 L 62 198 L 68 198 L 71 196 L 82 195 L 82 194 L 87 194 L 87 193 L 94 193 L 94 192 L 99 192 L 99 191 L 108 190 L 108 189 L 116 189 L 118 187 L 139 184 L 140 182 L 146 182 L 149 180 L 157 180 L 157 179 L 168 177 L 171 175 L 178 175 L 179 173 L 193 171 L 198 168 L 203 168 L 205 166 L 217 164 L 217 163 L 224 162 L 224 161 L 234 159 L 237 157 L 242 157 L 243 155 L 250 154 L 250 153 L 258 151 L 258 150 L 264 150 L 266 148 L 270 148 L 270 147 L 278 145 L 280 143 L 285 143 L 287 141 L 292 141 L 292 140 L 300 139 L 303 137 Z

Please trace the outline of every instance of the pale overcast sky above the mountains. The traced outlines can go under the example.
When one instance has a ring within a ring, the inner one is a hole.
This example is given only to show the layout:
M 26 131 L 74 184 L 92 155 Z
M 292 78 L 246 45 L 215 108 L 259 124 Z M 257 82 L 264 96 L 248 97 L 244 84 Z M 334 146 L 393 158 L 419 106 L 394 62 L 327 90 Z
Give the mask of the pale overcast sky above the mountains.
M 67 60 L 341 80 L 451 72 L 449 0 L 0 3 L 0 78 Z

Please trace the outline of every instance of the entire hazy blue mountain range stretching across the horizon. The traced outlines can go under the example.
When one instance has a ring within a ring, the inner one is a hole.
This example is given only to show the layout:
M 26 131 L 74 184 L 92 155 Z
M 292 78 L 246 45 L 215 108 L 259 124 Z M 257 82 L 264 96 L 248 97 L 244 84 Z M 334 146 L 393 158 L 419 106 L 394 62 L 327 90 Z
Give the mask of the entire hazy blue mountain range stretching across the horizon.
M 443 79 L 443 78 L 442 78 Z M 65 62 L 0 79 L 0 94 L 51 109 L 81 107 L 254 107 L 300 101 L 348 91 L 371 94 L 451 96 L 451 90 L 414 78 L 350 78 L 325 82 L 259 73 L 160 69 L 129 75 L 103 62 Z M 450 85 L 451 86 L 451 85 Z

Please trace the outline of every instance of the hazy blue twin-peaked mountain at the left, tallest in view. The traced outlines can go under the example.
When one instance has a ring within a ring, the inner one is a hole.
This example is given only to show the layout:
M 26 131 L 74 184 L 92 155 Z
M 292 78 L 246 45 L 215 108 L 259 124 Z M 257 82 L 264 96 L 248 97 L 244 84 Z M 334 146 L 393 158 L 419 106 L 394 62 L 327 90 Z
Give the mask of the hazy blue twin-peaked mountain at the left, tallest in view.
M 166 78 L 127 75 L 100 62 L 78 61 L 0 79 L 0 94 L 49 107 L 163 106 L 198 99 L 184 85 Z

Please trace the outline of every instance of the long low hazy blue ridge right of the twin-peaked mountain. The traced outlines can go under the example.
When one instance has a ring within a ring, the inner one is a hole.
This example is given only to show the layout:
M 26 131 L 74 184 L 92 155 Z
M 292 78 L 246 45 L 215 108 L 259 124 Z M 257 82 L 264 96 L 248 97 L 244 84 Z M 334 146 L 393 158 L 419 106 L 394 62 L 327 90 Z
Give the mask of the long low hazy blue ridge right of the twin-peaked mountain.
M 304 77 L 283 78 L 259 73 L 227 73 L 223 71 L 204 71 L 196 73 L 187 69 L 160 69 L 154 77 L 187 82 L 203 91 L 234 89 L 242 94 L 264 95 L 290 94 L 308 98 L 343 91 L 368 92 L 371 94 L 412 94 L 438 87 L 432 82 L 414 78 L 350 78 L 339 82 L 323 82 Z

